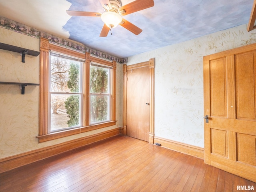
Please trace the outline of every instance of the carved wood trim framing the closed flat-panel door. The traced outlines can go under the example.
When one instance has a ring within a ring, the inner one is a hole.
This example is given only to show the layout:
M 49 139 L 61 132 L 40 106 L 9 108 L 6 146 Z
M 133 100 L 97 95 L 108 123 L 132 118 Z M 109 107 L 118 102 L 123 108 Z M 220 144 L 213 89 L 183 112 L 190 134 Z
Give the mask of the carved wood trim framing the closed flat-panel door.
M 130 66 L 127 66 L 126 64 L 123 65 L 123 127 L 120 128 L 120 133 L 123 135 L 126 135 L 126 126 L 127 126 L 127 71 L 136 69 L 136 68 L 142 68 L 142 67 L 149 67 L 150 69 L 150 109 L 149 109 L 149 134 L 148 134 L 148 142 L 150 144 L 154 143 L 154 135 L 155 135 L 155 128 L 154 128 L 154 76 L 155 76 L 155 58 L 151 58 L 150 60 L 146 62 L 141 62 L 138 64 L 133 64 Z

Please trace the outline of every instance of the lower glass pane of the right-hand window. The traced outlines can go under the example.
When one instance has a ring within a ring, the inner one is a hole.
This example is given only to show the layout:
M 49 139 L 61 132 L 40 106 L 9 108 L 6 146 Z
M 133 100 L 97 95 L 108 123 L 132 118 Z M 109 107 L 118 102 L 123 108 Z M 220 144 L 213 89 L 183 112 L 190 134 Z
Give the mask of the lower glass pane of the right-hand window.
M 102 122 L 109 120 L 109 96 L 108 95 L 91 95 L 90 96 L 91 118 L 90 123 Z

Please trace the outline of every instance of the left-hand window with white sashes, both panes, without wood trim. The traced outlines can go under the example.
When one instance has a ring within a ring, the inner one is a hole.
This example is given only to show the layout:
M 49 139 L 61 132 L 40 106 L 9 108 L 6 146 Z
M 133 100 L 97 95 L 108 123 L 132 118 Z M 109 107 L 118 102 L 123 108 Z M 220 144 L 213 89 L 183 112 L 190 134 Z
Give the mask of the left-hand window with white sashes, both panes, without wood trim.
M 79 58 L 50 53 L 49 129 L 50 132 L 82 125 L 81 69 Z

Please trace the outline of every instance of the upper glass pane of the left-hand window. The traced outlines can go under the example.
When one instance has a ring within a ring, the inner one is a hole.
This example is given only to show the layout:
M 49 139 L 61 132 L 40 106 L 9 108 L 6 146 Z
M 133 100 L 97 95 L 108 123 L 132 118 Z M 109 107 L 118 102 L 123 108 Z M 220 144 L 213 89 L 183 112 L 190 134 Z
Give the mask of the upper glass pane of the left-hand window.
M 81 62 L 51 55 L 51 92 L 79 92 Z

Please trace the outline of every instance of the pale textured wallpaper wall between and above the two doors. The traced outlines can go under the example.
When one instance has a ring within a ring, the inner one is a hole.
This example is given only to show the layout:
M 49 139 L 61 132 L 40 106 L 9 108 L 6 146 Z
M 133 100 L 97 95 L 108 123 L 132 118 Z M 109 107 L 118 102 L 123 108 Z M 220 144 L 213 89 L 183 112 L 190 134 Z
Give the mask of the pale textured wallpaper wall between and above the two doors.
M 155 58 L 155 136 L 204 147 L 203 56 L 256 42 L 246 25 L 128 57 Z

